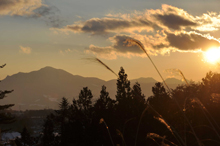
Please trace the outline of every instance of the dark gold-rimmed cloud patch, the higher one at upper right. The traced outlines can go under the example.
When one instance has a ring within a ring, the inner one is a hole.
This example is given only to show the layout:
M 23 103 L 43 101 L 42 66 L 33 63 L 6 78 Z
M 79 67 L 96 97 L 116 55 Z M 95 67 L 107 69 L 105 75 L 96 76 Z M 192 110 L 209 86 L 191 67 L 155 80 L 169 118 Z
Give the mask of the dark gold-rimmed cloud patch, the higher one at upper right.
M 192 20 L 186 19 L 183 16 L 176 14 L 155 14 L 154 17 L 159 20 L 163 25 L 174 30 L 181 30 L 182 26 L 198 26 L 198 24 L 193 22 Z

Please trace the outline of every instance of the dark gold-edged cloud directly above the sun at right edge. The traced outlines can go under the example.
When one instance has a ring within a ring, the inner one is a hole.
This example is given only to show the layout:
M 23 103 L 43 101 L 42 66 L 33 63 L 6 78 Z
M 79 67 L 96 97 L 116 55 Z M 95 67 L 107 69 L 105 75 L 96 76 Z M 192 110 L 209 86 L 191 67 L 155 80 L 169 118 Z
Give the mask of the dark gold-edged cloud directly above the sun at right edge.
M 206 36 L 197 33 L 166 34 L 166 40 L 169 42 L 169 45 L 182 51 L 193 51 L 198 49 L 205 51 L 210 47 L 220 46 L 219 41 L 209 39 Z

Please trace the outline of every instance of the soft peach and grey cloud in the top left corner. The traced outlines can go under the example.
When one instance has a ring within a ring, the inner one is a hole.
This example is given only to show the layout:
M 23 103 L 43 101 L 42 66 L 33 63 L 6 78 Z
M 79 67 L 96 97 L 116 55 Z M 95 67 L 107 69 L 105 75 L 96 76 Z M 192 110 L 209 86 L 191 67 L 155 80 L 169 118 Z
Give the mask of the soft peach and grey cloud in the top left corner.
M 59 9 L 48 6 L 42 0 L 0 0 L 0 15 L 42 18 L 50 27 L 58 28 L 64 22 Z

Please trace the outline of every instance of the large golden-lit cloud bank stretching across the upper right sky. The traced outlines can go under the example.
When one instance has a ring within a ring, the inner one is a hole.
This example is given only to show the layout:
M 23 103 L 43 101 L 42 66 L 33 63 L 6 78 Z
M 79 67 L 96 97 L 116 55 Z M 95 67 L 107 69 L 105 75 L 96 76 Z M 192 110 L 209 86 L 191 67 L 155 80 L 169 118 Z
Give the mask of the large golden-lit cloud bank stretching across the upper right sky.
M 136 46 L 128 47 L 126 39 L 136 39 L 143 43 L 150 55 L 170 52 L 202 52 L 210 47 L 219 47 L 220 39 L 209 33 L 219 31 L 220 14 L 207 12 L 193 16 L 187 11 L 170 5 L 161 9 L 150 9 L 132 14 L 108 14 L 104 18 L 91 18 L 75 22 L 61 32 L 87 33 L 91 35 L 110 34 L 111 46 L 90 45 L 86 53 L 105 59 L 117 56 L 143 56 Z

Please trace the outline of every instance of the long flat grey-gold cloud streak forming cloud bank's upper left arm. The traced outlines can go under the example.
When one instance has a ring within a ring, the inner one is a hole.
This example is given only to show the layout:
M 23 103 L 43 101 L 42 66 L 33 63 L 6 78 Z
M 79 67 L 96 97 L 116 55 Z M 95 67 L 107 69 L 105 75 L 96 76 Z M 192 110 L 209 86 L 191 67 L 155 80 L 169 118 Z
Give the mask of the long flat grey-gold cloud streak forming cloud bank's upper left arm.
M 157 25 L 147 19 L 125 20 L 119 18 L 92 18 L 85 22 L 67 25 L 60 30 L 72 31 L 75 33 L 106 34 L 110 32 L 127 32 L 142 27 L 143 29 L 150 30 L 157 27 Z

